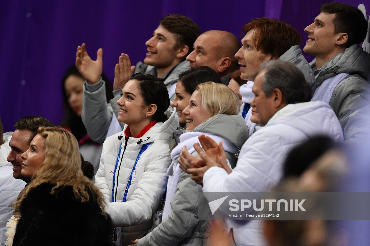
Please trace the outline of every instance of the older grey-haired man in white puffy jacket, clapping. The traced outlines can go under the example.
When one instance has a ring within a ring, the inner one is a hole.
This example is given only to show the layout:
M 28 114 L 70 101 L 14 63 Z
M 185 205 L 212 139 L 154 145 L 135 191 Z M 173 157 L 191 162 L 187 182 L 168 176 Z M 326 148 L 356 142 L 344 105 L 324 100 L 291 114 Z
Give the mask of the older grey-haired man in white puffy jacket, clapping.
M 209 202 L 219 197 L 215 197 L 215 192 L 207 191 L 268 191 L 282 177 L 282 164 L 287 153 L 313 136 L 321 134 L 343 141 L 342 129 L 332 108 L 324 102 L 308 102 L 310 89 L 302 72 L 292 63 L 270 61 L 263 64 L 252 90 L 255 97 L 250 102 L 251 120 L 263 127 L 244 143 L 233 170 L 222 161 L 223 158 L 214 161 L 199 144 L 194 144 L 200 156 L 197 159 L 200 168 L 186 171 L 196 182 L 203 184 Z M 219 148 L 209 137 L 201 138 L 208 146 Z M 225 156 L 221 149 L 221 156 Z M 194 159 L 188 153 L 182 154 L 188 161 Z M 221 212 L 228 215 L 230 211 L 226 210 Z M 259 221 L 228 221 L 227 224 L 233 228 L 237 245 L 266 245 Z

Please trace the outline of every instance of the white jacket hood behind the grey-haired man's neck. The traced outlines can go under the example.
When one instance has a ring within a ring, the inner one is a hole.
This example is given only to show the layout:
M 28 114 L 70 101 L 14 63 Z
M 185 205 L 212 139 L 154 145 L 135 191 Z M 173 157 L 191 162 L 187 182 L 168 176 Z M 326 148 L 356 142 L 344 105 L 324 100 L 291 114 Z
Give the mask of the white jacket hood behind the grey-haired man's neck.
M 333 109 L 324 102 L 288 104 L 273 115 L 266 126 L 284 124 L 311 138 L 319 134 L 343 141 L 343 131 Z M 320 126 L 320 127 L 317 127 Z

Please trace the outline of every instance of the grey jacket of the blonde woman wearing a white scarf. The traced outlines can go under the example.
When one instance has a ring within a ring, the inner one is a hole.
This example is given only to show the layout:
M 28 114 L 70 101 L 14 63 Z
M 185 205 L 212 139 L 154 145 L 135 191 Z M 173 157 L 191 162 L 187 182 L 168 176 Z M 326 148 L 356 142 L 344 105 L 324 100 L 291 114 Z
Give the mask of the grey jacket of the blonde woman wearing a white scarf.
M 239 148 L 248 139 L 248 130 L 240 115 L 216 115 L 194 131 L 218 135 Z M 226 157 L 231 164 L 235 163 L 234 155 L 227 153 Z M 137 246 L 206 245 L 208 222 L 198 219 L 198 206 L 205 202 L 195 181 L 182 172 L 171 201 L 171 213 L 152 232 L 139 239 Z

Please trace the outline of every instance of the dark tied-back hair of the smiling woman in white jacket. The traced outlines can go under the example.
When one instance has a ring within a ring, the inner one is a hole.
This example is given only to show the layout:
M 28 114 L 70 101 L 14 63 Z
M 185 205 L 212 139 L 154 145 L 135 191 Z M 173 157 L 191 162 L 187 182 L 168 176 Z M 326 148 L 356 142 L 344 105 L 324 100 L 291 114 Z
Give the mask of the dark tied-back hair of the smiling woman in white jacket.
M 157 105 L 157 111 L 153 115 L 153 120 L 165 122 L 167 116 L 165 112 L 169 107 L 169 96 L 165 84 L 157 77 L 149 74 L 137 73 L 131 79 L 139 81 L 138 88 L 146 105 Z

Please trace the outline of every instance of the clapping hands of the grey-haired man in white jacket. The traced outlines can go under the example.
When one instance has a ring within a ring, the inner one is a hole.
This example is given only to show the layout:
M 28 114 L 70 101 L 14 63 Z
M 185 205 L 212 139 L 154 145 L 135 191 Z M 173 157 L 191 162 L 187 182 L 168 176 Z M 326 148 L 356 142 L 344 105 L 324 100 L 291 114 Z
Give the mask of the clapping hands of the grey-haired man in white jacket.
M 232 170 L 227 164 L 222 142 L 217 144 L 211 137 L 204 134 L 198 138 L 203 149 L 198 143 L 194 144 L 194 148 L 199 157 L 192 156 L 184 146 L 178 158 L 180 168 L 190 174 L 190 177 L 200 185 L 203 185 L 204 173 L 211 167 L 221 167 L 231 173 Z

